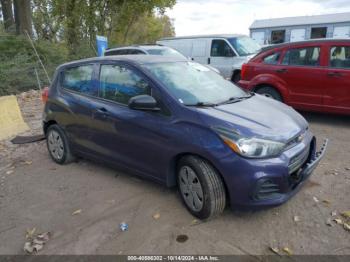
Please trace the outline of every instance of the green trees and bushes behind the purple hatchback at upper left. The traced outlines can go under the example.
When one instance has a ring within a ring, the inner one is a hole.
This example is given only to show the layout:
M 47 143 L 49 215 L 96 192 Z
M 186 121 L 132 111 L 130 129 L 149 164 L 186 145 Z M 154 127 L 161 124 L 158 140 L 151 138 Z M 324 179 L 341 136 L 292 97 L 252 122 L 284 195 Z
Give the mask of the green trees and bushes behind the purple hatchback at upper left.
M 164 15 L 176 0 L 31 0 L 35 47 L 52 77 L 66 61 L 96 56 L 96 35 L 110 46 L 154 43 L 173 36 Z M 4 32 L 0 23 L 0 96 L 37 88 L 47 77 L 30 42 Z

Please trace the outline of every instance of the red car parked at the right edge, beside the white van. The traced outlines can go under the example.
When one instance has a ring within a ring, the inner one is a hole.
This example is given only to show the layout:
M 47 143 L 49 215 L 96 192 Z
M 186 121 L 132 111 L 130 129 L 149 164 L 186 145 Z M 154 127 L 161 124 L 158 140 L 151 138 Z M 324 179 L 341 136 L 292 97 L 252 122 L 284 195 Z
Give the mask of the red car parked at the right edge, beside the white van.
M 239 85 L 296 109 L 350 114 L 350 40 L 267 47 L 243 65 Z

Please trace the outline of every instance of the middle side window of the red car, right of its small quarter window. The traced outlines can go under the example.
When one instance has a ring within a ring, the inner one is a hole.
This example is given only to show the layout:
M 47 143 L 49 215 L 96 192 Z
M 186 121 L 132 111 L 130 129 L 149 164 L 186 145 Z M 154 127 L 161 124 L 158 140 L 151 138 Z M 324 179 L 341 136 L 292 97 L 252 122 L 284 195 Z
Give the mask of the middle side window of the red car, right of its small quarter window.
M 307 47 L 290 49 L 284 55 L 283 65 L 318 66 L 320 64 L 320 48 Z

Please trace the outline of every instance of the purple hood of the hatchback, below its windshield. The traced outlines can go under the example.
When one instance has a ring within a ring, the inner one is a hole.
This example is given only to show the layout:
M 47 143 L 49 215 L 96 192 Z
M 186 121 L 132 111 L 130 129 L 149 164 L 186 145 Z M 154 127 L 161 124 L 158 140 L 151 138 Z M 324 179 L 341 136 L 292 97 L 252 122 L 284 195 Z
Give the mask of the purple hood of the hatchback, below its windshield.
M 231 129 L 247 137 L 287 142 L 308 127 L 306 120 L 290 106 L 261 95 L 197 110 L 206 125 Z

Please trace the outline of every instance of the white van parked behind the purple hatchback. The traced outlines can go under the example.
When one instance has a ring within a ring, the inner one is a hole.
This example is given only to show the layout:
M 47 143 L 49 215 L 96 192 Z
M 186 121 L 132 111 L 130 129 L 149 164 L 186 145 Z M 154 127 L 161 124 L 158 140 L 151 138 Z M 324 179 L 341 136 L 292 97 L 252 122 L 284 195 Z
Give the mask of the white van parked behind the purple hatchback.
M 210 64 L 235 83 L 240 79 L 242 64 L 261 49 L 259 44 L 245 35 L 162 38 L 157 44 L 172 47 L 198 63 Z

